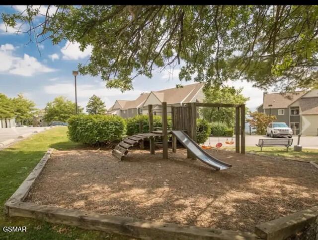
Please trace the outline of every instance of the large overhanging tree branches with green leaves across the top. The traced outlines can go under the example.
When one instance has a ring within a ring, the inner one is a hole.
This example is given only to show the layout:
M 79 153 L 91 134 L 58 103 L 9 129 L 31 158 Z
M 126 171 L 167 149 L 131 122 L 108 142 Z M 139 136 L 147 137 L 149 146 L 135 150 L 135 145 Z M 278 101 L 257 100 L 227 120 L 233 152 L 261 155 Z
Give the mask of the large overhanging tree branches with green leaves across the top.
M 122 91 L 135 76 L 176 64 L 180 80 L 196 74 L 215 86 L 242 78 L 286 91 L 318 83 L 317 5 L 49 5 L 44 12 L 27 5 L 1 17 L 7 27 L 26 23 L 37 43 L 91 46 L 80 73 Z

